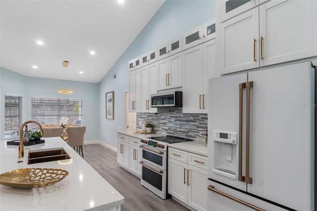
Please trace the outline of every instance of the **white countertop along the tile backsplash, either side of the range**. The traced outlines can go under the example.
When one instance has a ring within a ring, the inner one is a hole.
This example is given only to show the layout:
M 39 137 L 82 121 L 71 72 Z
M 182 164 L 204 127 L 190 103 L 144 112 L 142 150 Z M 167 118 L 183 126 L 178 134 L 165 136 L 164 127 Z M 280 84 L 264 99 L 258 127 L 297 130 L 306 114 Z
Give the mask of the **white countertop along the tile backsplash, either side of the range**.
M 144 139 L 149 137 L 156 137 L 156 136 L 165 136 L 166 134 L 154 133 L 154 134 L 133 134 L 134 131 L 117 131 L 117 133 L 131 136 L 134 138 Z M 208 147 L 206 142 L 203 141 L 189 141 L 189 142 L 180 142 L 174 144 L 167 144 L 168 147 L 172 147 L 179 150 L 184 150 L 190 153 L 195 153 L 201 156 L 208 155 Z

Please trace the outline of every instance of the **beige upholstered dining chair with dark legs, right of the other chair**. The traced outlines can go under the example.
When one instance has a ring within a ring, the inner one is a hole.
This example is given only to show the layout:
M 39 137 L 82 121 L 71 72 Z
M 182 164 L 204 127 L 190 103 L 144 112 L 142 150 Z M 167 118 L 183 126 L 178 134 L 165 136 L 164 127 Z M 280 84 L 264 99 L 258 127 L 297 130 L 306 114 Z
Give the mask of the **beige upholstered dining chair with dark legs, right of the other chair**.
M 84 134 L 86 131 L 86 126 L 79 126 L 79 127 L 67 127 L 66 133 L 68 135 L 68 139 L 66 143 L 73 147 L 76 152 L 84 158 L 84 152 L 83 152 L 83 145 L 84 145 Z M 79 151 L 78 151 L 79 147 Z

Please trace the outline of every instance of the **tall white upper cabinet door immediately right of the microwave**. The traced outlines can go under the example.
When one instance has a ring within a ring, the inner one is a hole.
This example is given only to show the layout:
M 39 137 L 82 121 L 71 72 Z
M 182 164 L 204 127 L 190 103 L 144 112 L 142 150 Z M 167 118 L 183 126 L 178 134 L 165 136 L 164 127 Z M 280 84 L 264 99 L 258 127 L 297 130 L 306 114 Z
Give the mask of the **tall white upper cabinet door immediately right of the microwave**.
M 203 45 L 183 52 L 183 113 L 204 112 Z

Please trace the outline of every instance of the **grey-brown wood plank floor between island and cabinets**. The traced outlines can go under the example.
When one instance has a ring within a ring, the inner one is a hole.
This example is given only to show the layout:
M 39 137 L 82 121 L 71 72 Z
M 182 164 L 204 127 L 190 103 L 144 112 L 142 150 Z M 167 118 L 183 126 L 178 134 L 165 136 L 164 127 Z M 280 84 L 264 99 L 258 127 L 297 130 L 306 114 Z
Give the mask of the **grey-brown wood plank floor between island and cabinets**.
M 122 211 L 188 211 L 172 199 L 162 200 L 119 166 L 116 153 L 99 144 L 84 146 L 84 159 L 123 197 Z

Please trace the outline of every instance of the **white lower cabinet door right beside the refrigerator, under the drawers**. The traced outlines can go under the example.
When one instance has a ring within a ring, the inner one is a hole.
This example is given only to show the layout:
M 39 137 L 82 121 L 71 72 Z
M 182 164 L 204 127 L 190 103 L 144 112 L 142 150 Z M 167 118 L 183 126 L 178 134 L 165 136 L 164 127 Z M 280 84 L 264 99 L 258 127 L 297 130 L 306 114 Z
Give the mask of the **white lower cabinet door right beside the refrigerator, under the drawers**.
M 207 170 L 188 165 L 188 202 L 198 211 L 207 210 Z

